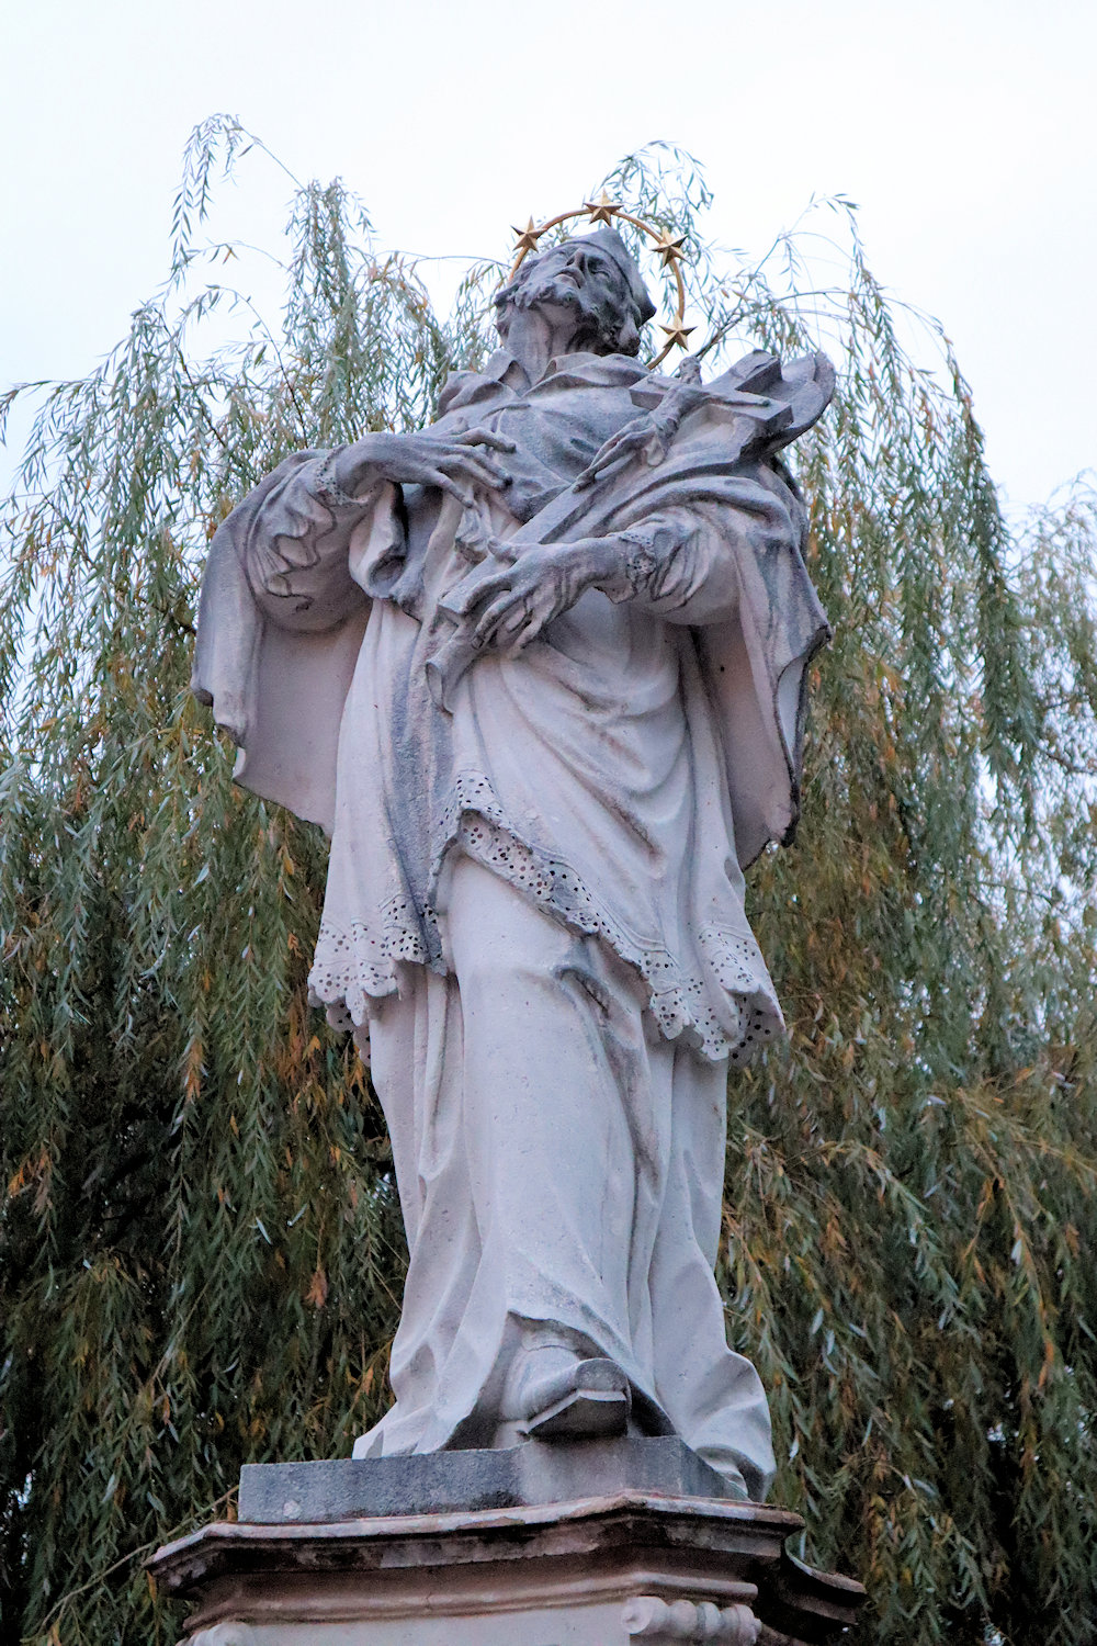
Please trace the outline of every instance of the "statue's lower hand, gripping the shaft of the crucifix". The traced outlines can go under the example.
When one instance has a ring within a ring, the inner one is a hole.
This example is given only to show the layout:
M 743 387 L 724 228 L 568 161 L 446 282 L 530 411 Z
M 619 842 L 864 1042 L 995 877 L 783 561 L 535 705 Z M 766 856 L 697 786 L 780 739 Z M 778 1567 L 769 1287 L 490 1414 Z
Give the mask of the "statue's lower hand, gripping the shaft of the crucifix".
M 477 650 L 513 655 L 613 570 L 612 538 L 535 543 L 510 566 L 462 578 L 444 609 L 462 621 Z

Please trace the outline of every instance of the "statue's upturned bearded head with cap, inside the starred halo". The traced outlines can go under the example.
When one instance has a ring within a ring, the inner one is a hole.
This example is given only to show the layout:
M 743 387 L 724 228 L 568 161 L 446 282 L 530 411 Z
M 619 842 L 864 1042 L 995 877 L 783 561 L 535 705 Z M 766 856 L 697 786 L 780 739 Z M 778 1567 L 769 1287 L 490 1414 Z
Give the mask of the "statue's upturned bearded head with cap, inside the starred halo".
M 633 258 L 613 229 L 599 229 L 536 252 L 495 296 L 495 324 L 507 341 L 521 309 L 551 313 L 572 328 L 572 351 L 636 354 L 640 328 L 655 314 Z

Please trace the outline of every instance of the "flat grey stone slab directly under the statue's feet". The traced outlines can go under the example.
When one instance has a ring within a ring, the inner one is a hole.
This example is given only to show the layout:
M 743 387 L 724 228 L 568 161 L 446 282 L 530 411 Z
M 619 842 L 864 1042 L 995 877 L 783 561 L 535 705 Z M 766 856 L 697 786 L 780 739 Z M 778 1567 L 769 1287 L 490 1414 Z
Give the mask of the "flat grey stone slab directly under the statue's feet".
M 618 1491 L 732 1496 L 727 1481 L 676 1437 L 554 1442 L 503 1450 L 428 1452 L 365 1462 L 245 1463 L 240 1519 L 352 1521 L 378 1514 L 510 1509 Z

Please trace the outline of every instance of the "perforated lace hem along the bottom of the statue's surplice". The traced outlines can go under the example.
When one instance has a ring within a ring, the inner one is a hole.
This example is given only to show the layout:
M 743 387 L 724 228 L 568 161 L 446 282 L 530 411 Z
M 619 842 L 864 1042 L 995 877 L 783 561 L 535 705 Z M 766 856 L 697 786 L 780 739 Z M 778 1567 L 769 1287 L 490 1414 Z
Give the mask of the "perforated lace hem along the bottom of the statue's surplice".
M 612 920 L 569 863 L 520 839 L 480 774 L 457 779 L 439 836 L 431 897 L 421 914 L 408 897 L 390 899 L 382 909 L 380 937 L 362 920 L 337 925 L 324 917 L 309 973 L 309 1001 L 326 1007 L 334 1027 L 367 1024 L 368 999 L 396 991 L 396 961 L 444 969 L 433 897 L 446 858 L 456 849 L 500 874 L 561 923 L 602 937 L 648 984 L 648 1007 L 668 1040 L 681 1037 L 714 1062 L 729 1057 L 743 1065 L 783 1030 L 761 950 L 750 933 L 702 927 L 697 948 L 711 981 L 686 974 L 668 948 L 645 943 Z M 712 984 L 725 1006 L 734 1006 L 734 1027 L 717 1017 L 709 997 Z

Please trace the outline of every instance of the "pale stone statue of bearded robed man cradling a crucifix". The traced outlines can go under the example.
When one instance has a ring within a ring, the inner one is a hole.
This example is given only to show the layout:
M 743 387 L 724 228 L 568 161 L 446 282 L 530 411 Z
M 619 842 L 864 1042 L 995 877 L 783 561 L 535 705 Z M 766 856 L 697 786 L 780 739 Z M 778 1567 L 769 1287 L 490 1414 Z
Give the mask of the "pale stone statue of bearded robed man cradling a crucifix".
M 428 430 L 240 504 L 199 612 L 238 780 L 331 835 L 312 999 L 391 1132 L 396 1401 L 355 1457 L 678 1434 L 761 1498 L 712 1267 L 729 1060 L 783 1029 L 742 869 L 796 825 L 827 635 L 776 453 L 832 372 L 645 370 L 612 227 L 495 301 Z

